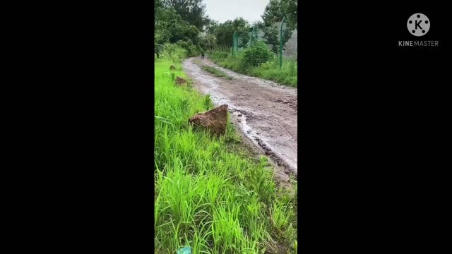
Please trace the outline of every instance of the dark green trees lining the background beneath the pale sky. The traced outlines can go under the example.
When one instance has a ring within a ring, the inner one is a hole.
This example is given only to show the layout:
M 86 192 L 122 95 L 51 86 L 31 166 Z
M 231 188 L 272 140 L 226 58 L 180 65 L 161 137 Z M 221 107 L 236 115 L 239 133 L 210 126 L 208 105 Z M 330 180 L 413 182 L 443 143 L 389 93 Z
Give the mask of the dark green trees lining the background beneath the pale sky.
M 163 44 L 172 43 L 184 47 L 191 56 L 208 49 L 230 49 L 234 32 L 246 44 L 255 25 L 276 52 L 279 28 L 274 24 L 285 17 L 285 43 L 292 36 L 292 30 L 297 28 L 298 17 L 297 0 L 270 0 L 261 16 L 263 21 L 253 24 L 241 17 L 219 23 L 206 15 L 203 0 L 155 0 L 154 11 L 155 51 L 160 52 Z

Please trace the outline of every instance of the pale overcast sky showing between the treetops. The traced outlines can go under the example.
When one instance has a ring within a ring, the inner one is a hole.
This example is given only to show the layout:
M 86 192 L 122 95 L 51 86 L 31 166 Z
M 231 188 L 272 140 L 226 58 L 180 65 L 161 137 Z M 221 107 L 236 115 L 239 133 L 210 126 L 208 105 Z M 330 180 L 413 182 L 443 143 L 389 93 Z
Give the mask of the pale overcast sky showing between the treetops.
M 204 0 L 206 14 L 220 23 L 242 17 L 253 23 L 262 20 L 261 15 L 270 0 Z

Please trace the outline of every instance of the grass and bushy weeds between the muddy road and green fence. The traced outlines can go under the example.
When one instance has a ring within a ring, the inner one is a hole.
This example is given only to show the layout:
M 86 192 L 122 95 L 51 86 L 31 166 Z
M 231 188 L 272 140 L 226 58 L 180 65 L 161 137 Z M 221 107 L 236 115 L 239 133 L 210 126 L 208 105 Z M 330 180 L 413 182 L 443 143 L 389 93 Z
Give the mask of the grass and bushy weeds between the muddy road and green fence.
M 241 53 L 232 56 L 227 52 L 210 52 L 210 59 L 223 68 L 228 68 L 237 73 L 251 75 L 266 80 L 273 80 L 281 85 L 297 87 L 297 61 L 294 59 L 283 59 L 283 68 L 279 67 L 279 59 L 277 57 L 262 63 L 257 67 L 249 67 L 244 65 Z

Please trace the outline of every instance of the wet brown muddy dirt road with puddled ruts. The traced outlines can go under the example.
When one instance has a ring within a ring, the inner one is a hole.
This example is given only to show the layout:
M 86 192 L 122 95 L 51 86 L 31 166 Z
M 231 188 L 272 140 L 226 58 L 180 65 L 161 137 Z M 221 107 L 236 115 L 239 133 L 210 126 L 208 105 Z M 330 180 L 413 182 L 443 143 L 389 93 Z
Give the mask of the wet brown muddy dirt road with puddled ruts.
M 232 80 L 217 78 L 198 63 L 218 68 Z M 228 105 L 232 123 L 284 171 L 286 180 L 289 175 L 297 176 L 296 88 L 234 73 L 207 58 L 186 59 L 182 68 L 197 90 L 210 95 L 215 106 Z

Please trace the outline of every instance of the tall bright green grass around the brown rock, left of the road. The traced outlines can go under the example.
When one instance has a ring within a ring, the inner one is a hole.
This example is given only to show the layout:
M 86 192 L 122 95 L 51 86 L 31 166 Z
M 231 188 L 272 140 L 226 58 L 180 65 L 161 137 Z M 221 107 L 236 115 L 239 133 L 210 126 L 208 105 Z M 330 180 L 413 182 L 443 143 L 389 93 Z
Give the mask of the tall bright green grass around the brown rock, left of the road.
M 295 198 L 276 187 L 266 157 L 244 152 L 232 125 L 221 137 L 189 126 L 213 104 L 176 87 L 171 64 L 186 78 L 179 62 L 155 60 L 155 253 L 294 253 Z

